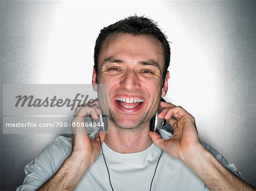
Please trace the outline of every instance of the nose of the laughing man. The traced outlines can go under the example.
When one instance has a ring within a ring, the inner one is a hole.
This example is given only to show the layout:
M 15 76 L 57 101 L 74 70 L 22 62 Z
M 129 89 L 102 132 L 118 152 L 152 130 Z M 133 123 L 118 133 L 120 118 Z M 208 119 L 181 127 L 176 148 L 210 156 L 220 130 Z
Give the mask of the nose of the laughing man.
M 127 70 L 123 74 L 120 86 L 129 91 L 137 90 L 140 87 L 138 74 L 133 70 Z

